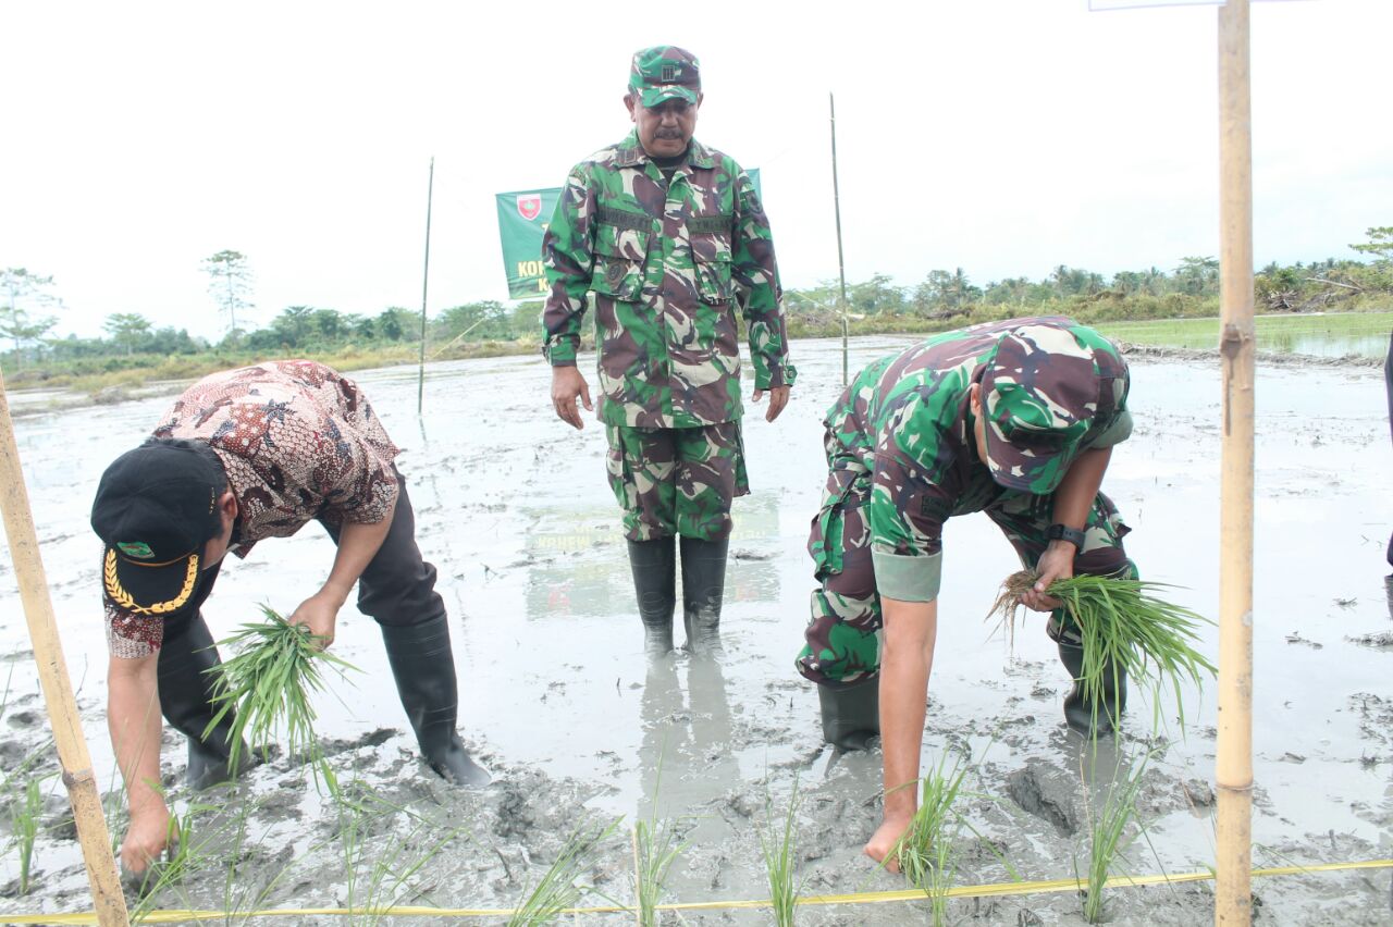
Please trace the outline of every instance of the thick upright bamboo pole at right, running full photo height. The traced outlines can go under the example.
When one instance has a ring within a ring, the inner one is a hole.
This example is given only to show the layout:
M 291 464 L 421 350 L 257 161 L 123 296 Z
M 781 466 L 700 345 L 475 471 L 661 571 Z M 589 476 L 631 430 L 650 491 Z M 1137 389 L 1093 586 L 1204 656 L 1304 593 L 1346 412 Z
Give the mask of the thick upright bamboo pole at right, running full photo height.
M 1252 93 L 1248 0 L 1219 8 L 1219 846 L 1215 924 L 1252 921 Z

